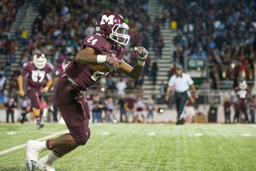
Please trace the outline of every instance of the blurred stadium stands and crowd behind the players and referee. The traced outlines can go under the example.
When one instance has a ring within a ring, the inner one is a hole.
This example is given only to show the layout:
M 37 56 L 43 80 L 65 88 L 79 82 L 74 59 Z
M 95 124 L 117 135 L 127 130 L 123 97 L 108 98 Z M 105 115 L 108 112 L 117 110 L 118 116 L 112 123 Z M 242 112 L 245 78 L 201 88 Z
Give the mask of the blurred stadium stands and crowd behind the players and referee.
M 14 122 L 18 122 L 21 108 L 29 106 L 27 98 L 18 96 L 17 77 L 23 63 L 32 60 L 33 54 L 45 54 L 54 66 L 55 83 L 84 38 L 95 33 L 96 19 L 109 11 L 122 15 L 129 26 L 124 61 L 136 65 L 135 46 L 144 46 L 149 55 L 138 80 L 115 72 L 86 92 L 91 122 L 175 122 L 174 92 L 170 101 L 164 97 L 177 64 L 192 77 L 199 94 L 187 108 L 187 122 L 228 122 L 225 102 L 230 104 L 233 122 L 238 102 L 234 88 L 241 81 L 251 89 L 247 110 L 249 121 L 255 122 L 254 0 L 1 0 L 0 122 L 6 122 L 6 110 L 14 111 Z M 41 102 L 45 122 L 61 120 L 52 107 L 52 90 Z M 96 102 L 103 107 L 95 107 Z M 121 117 L 120 112 L 129 110 L 125 106 L 136 114 L 138 103 L 144 105 L 144 117 Z M 27 116 L 28 121 L 31 118 Z M 240 115 L 239 122 L 243 120 Z

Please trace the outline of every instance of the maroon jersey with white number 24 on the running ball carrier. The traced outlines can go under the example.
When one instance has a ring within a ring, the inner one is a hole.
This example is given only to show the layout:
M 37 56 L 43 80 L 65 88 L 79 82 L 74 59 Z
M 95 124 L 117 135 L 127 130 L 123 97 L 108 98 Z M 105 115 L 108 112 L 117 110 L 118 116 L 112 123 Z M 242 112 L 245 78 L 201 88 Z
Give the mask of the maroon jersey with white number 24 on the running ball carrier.
M 91 47 L 96 54 L 115 54 L 117 59 L 121 60 L 124 54 L 120 45 L 113 46 L 100 35 L 89 35 L 84 39 L 81 49 Z M 84 56 L 86 58 L 86 56 Z M 89 64 L 77 63 L 72 61 L 65 69 L 68 77 L 72 78 L 82 90 L 87 90 L 88 87 L 97 82 L 103 75 L 108 73 L 97 72 L 92 69 Z

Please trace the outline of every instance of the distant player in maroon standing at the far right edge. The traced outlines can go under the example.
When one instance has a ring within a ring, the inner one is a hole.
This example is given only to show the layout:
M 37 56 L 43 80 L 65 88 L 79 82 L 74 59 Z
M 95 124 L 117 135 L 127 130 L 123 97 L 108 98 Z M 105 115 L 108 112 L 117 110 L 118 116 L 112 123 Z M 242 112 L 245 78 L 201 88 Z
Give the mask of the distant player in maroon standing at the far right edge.
M 237 123 L 238 123 L 239 113 L 243 111 L 243 113 L 245 114 L 245 123 L 248 123 L 246 98 L 247 98 L 248 92 L 250 91 L 250 88 L 247 86 L 246 81 L 243 81 L 239 83 L 239 86 L 235 88 L 235 91 L 238 95 L 238 104 L 236 107 L 236 112 L 235 112 L 233 122 L 235 123 L 235 119 L 237 118 Z

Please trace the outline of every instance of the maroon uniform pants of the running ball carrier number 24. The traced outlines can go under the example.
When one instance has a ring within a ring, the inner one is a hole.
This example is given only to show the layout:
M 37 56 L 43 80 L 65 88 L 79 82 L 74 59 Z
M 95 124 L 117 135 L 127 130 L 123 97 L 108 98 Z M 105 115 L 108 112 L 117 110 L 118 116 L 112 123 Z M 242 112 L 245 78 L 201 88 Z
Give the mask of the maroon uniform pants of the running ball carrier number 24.
M 90 110 L 84 95 L 66 77 L 60 78 L 54 87 L 54 101 L 74 140 L 84 145 L 90 138 Z

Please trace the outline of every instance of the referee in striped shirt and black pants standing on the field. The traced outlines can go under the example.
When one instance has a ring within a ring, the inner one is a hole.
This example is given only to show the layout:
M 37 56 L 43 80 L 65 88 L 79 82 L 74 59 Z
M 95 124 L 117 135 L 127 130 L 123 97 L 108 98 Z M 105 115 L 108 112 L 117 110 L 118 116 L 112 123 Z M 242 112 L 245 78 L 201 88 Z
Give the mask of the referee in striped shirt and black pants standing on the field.
M 195 98 L 198 98 L 198 95 L 196 93 L 196 89 L 193 83 L 194 81 L 192 81 L 191 77 L 187 73 L 183 72 L 182 65 L 177 65 L 176 74 L 170 78 L 168 87 L 166 90 L 166 96 L 165 96 L 165 100 L 168 101 L 169 93 L 172 91 L 172 88 L 174 87 L 175 102 L 176 102 L 177 113 L 178 113 L 177 123 L 176 123 L 177 125 L 183 124 L 185 106 L 189 101 L 189 95 L 188 95 L 189 86 L 191 86 Z

